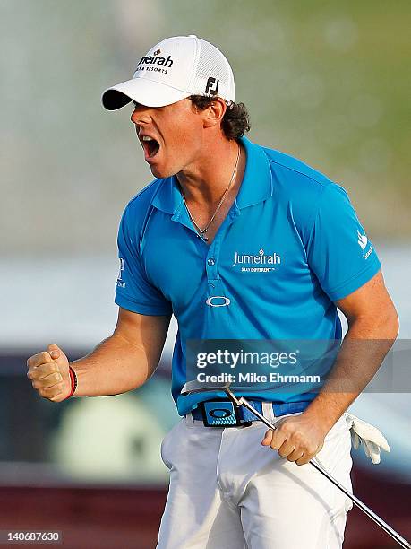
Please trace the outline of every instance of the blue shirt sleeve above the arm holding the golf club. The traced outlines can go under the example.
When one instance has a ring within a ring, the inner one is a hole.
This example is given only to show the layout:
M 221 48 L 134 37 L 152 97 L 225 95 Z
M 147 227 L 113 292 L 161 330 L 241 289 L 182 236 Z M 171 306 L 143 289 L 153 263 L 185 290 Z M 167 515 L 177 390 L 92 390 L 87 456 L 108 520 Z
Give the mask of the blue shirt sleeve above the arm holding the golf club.
M 330 300 L 338 301 L 377 274 L 381 262 L 343 187 L 330 183 L 319 201 L 308 264 Z

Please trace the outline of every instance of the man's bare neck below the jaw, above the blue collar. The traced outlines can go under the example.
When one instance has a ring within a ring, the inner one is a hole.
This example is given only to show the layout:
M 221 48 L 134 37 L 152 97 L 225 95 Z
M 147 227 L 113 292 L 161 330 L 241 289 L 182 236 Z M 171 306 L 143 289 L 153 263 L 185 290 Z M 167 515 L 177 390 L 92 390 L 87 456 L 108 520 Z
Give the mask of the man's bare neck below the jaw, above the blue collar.
M 233 176 L 238 147 L 236 141 L 221 137 L 205 144 L 202 153 L 192 165 L 176 174 L 187 201 L 198 204 L 216 204 Z M 239 187 L 243 179 L 245 154 L 242 148 L 232 189 Z

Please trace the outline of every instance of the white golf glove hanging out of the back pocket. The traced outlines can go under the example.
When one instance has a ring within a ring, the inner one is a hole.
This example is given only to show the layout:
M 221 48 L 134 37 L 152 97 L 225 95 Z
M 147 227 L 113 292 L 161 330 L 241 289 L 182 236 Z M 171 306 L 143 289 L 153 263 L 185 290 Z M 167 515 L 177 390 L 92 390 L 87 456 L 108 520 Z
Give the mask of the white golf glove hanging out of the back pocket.
M 389 443 L 384 435 L 370 423 L 360 420 L 353 414 L 345 413 L 347 426 L 351 432 L 351 442 L 355 449 L 358 449 L 361 443 L 364 446 L 364 452 L 370 457 L 373 464 L 380 463 L 381 449 L 390 451 Z

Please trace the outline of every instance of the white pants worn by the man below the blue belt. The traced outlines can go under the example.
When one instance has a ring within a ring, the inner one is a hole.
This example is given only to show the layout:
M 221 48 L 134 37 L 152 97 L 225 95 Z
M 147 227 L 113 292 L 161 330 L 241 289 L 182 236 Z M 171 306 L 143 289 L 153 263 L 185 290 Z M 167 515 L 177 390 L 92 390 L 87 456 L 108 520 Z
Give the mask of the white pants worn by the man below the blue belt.
M 170 486 L 158 549 L 342 546 L 351 501 L 310 464 L 297 466 L 261 446 L 266 430 L 261 422 L 205 427 L 190 415 L 167 433 L 161 457 Z M 317 457 L 351 490 L 350 449 L 343 416 Z

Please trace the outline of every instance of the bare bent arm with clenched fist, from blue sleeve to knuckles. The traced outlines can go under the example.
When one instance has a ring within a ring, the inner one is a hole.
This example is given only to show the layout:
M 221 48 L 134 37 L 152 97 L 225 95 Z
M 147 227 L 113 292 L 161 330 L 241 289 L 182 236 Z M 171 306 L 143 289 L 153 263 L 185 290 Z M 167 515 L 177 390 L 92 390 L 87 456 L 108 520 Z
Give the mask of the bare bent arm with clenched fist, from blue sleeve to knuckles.
M 122 309 L 116 329 L 87 356 L 69 364 L 56 344 L 27 361 L 27 377 L 39 395 L 61 402 L 71 391 L 69 366 L 77 377 L 74 396 L 107 396 L 141 387 L 156 370 L 170 316 L 141 315 Z

